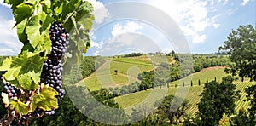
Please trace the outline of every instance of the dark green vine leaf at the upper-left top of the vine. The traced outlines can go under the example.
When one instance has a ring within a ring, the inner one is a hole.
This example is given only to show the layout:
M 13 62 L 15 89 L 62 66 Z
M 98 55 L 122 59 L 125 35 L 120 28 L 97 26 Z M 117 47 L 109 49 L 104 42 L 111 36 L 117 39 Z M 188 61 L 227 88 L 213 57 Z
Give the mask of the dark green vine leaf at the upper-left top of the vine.
M 32 16 L 32 10 L 33 7 L 30 4 L 21 3 L 17 6 L 17 9 L 15 9 L 15 21 L 16 25 L 20 24 L 22 20 L 25 20 L 26 18 L 29 18 Z

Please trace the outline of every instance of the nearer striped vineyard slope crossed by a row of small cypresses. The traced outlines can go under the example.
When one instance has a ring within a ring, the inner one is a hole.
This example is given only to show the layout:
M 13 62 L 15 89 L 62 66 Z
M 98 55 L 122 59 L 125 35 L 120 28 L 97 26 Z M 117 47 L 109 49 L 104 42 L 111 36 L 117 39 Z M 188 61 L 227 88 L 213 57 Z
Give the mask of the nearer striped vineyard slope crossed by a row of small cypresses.
M 204 69 L 201 72 L 194 73 L 191 75 L 192 77 L 192 82 L 195 84 L 192 87 L 190 86 L 191 81 L 187 81 L 188 78 L 190 79 L 191 77 L 185 77 L 179 81 L 173 82 L 171 85 L 172 87 L 168 89 L 168 94 L 173 94 L 177 95 L 180 97 L 185 97 L 186 99 L 189 100 L 189 104 L 191 106 L 187 110 L 187 113 L 190 113 L 192 115 L 195 115 L 195 112 L 198 112 L 197 109 L 197 103 L 200 100 L 200 94 L 203 90 L 203 84 L 206 83 L 205 78 L 208 78 L 209 81 L 214 80 L 214 77 L 217 78 L 217 81 L 220 82 L 221 77 L 224 77 L 226 74 L 224 72 L 223 67 L 214 67 L 214 68 L 207 68 Z M 201 86 L 198 85 L 198 80 L 201 80 Z M 182 82 L 185 83 L 185 87 L 183 87 L 181 84 Z M 240 80 L 238 80 L 240 81 Z M 241 99 L 236 102 L 236 111 L 238 112 L 241 107 L 244 109 L 248 108 L 248 103 L 247 101 L 243 101 L 246 98 L 246 94 L 244 92 L 244 89 L 253 83 L 251 82 L 246 82 L 246 83 L 241 83 L 241 82 L 235 82 L 236 83 L 236 88 L 238 90 L 241 90 Z M 174 84 L 179 84 L 177 88 L 175 88 L 173 85 Z M 134 94 L 127 94 L 124 96 L 119 96 L 116 97 L 114 100 L 119 103 L 119 106 L 123 108 L 131 107 L 131 106 L 136 106 L 139 104 L 141 101 L 145 100 L 149 94 L 152 92 L 151 89 L 143 92 L 137 92 Z

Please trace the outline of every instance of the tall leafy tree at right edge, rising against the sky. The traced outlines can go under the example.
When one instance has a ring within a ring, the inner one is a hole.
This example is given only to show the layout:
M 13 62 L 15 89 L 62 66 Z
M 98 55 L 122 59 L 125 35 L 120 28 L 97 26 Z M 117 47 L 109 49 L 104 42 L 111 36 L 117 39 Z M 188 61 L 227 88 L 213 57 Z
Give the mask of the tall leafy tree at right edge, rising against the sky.
M 256 80 L 256 30 L 252 25 L 239 26 L 237 31 L 232 30 L 220 51 L 227 51 L 230 60 L 235 65 L 227 72 L 239 77 L 249 77 L 251 81 Z

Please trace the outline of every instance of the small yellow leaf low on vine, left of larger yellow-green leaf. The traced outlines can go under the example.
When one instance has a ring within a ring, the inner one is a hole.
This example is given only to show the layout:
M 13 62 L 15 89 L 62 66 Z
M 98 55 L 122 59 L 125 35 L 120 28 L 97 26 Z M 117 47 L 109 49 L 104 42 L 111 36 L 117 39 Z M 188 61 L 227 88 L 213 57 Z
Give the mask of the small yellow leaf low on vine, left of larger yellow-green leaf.
M 10 100 L 10 109 L 14 109 L 15 112 L 18 112 L 20 116 L 26 115 L 28 113 L 28 106 L 21 102 L 20 100 Z

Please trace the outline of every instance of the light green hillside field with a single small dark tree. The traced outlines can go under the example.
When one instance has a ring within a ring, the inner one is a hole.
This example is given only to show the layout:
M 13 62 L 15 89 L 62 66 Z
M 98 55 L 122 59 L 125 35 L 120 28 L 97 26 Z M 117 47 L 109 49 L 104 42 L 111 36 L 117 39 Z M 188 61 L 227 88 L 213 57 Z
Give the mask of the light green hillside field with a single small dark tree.
M 123 86 L 138 81 L 138 73 L 150 71 L 153 68 L 153 65 L 140 60 L 129 60 L 127 58 L 108 59 L 96 72 L 93 72 L 78 84 L 87 86 L 90 90 Z M 115 70 L 118 70 L 118 74 L 114 72 Z

